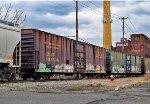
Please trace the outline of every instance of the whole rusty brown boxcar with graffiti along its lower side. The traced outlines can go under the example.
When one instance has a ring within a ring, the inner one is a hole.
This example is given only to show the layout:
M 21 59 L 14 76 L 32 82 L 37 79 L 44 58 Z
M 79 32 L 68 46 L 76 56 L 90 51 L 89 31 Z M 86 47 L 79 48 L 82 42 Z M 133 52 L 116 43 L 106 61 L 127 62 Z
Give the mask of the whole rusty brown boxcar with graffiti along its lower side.
M 35 72 L 105 73 L 102 47 L 37 29 L 22 29 L 21 34 L 21 69 L 25 76 L 32 77 Z

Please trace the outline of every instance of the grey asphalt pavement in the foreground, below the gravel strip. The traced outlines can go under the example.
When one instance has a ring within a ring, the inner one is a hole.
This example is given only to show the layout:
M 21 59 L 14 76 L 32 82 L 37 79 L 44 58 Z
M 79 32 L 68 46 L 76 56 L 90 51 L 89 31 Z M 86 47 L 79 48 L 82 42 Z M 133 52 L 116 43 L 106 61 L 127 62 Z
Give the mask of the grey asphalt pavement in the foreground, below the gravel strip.
M 149 104 L 150 83 L 109 93 L 60 94 L 0 90 L 0 104 Z

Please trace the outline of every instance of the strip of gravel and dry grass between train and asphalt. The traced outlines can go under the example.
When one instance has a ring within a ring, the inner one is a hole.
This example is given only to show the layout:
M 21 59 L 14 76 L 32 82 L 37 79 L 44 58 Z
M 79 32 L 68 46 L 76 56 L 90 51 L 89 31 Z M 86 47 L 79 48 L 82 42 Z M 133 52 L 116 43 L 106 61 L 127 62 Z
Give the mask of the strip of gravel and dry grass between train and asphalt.
M 143 83 L 150 83 L 150 74 L 146 74 L 144 77 L 118 78 L 114 81 L 110 81 L 110 79 L 53 79 L 49 81 L 18 80 L 14 82 L 1 81 L 0 89 L 51 93 L 104 93 L 107 91 L 120 90 Z

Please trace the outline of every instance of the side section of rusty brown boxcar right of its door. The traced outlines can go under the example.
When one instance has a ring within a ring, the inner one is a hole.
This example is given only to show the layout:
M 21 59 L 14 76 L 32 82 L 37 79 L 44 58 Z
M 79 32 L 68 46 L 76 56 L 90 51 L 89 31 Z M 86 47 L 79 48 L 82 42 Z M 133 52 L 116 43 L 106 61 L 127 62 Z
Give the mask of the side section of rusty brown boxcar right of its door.
M 105 49 L 86 45 L 86 72 L 105 73 Z

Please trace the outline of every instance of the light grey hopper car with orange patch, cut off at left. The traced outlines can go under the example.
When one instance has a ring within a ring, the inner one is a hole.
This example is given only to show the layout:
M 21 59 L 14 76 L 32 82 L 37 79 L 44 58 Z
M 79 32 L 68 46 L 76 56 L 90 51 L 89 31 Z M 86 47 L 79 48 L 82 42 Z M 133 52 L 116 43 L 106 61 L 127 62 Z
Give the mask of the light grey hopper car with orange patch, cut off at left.
M 13 80 L 21 66 L 21 30 L 0 23 L 0 78 Z

